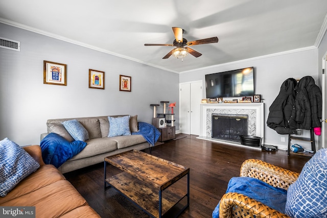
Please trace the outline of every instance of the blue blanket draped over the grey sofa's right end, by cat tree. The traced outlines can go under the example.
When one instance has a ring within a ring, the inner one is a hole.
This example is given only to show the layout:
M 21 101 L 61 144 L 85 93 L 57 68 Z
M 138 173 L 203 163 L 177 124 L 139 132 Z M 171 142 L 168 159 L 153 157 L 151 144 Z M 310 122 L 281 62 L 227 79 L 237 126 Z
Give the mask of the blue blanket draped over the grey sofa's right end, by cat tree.
M 132 132 L 132 135 L 143 135 L 143 137 L 154 146 L 155 142 L 158 140 L 160 136 L 160 132 L 155 126 L 144 123 L 138 122 L 138 132 Z

